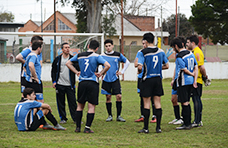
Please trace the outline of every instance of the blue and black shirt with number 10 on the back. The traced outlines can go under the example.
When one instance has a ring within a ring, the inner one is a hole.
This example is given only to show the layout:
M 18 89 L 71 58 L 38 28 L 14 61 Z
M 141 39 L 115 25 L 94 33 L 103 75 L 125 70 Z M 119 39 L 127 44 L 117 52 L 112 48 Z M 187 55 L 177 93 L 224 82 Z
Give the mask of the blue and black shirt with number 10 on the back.
M 195 56 L 190 51 L 185 49 L 178 53 L 176 58 L 176 68 L 179 69 L 177 87 L 192 85 L 194 83 L 194 77 L 186 74 L 183 70 L 187 69 L 193 72 L 195 65 L 197 65 Z

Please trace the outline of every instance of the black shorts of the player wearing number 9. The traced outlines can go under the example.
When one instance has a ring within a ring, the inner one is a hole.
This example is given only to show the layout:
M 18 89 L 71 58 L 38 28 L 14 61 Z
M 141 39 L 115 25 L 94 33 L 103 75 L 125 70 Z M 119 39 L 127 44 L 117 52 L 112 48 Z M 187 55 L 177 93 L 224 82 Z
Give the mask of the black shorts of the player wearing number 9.
M 147 78 L 142 81 L 142 89 L 140 89 L 141 97 L 163 96 L 164 91 L 162 87 L 161 77 Z

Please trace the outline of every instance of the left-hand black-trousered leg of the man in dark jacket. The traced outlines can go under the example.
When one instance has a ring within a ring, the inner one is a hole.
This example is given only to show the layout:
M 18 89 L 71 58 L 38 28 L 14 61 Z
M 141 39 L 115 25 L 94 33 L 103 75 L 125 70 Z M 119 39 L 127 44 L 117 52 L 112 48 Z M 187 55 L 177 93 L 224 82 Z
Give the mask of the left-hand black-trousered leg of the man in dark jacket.
M 57 108 L 58 108 L 61 124 L 67 122 L 66 109 L 65 109 L 65 106 L 66 106 L 65 94 L 66 94 L 66 86 L 57 84 L 56 85 L 56 102 L 57 102 Z

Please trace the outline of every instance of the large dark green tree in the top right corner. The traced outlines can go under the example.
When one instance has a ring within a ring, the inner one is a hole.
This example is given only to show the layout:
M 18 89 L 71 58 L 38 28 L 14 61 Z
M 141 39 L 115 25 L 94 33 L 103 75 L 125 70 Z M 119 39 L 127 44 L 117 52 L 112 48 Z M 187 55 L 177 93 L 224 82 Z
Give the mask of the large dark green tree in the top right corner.
M 190 22 L 198 34 L 209 37 L 214 44 L 228 43 L 227 0 L 197 0 L 191 8 Z

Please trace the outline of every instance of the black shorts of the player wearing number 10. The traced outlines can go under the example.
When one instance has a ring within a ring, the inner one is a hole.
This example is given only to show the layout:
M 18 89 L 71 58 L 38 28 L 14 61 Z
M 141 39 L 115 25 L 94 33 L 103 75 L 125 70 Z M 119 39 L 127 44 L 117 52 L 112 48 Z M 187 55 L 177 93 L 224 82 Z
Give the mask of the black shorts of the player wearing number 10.
M 178 102 L 185 103 L 190 101 L 193 85 L 177 87 Z

